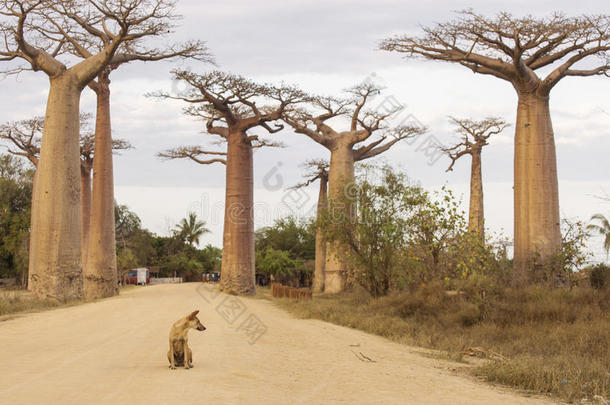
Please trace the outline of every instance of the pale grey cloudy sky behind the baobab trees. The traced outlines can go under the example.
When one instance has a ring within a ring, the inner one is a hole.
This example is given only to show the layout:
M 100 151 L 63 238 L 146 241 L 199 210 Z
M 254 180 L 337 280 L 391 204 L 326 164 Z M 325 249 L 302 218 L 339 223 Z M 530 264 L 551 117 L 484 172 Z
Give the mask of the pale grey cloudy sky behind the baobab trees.
M 445 173 L 447 159 L 431 163 L 434 159 L 425 153 L 426 142 L 429 137 L 447 144 L 455 139 L 448 115 L 475 119 L 494 115 L 514 123 L 517 98 L 513 88 L 457 65 L 405 60 L 399 54 L 376 50 L 387 36 L 417 34 L 421 25 L 446 21 L 455 10 L 465 8 L 488 15 L 499 11 L 538 16 L 559 10 L 568 15 L 608 12 L 603 0 L 516 0 L 510 6 L 500 1 L 455 0 L 182 0 L 178 12 L 184 18 L 172 39 L 205 40 L 219 69 L 254 80 L 296 84 L 315 93 L 340 94 L 342 89 L 374 79 L 386 88 L 384 97 L 405 107 L 404 117 L 414 117 L 429 127 L 427 135 L 410 145 L 396 146 L 381 160 L 402 168 L 427 189 L 448 185 L 467 202 L 468 159 Z M 136 147 L 116 157 L 116 198 L 158 234 L 168 234 L 180 218 L 195 210 L 212 230 L 202 243 L 220 246 L 224 167 L 155 157 L 170 147 L 213 141 L 202 132 L 200 122 L 182 115 L 180 103 L 144 96 L 155 90 L 179 89 L 169 74 L 176 66 L 197 72 L 212 69 L 197 62 L 133 63 L 113 73 L 114 136 Z M 4 78 L 0 89 L 0 122 L 44 114 L 48 91 L 44 74 Z M 93 95 L 85 91 L 81 109 L 93 112 L 94 108 Z M 609 203 L 597 196 L 610 194 L 610 80 L 564 79 L 552 92 L 551 113 L 562 215 L 587 220 L 597 212 L 607 214 Z M 509 237 L 513 232 L 513 135 L 514 130 L 507 129 L 491 140 L 483 154 L 487 226 Z M 328 157 L 320 145 L 289 130 L 273 139 L 286 147 L 260 150 L 255 155 L 257 227 L 291 212 L 307 215 L 315 204 L 315 186 L 302 193 L 286 188 L 300 181 L 300 164 L 305 160 Z M 592 241 L 592 250 L 601 257 L 598 240 Z

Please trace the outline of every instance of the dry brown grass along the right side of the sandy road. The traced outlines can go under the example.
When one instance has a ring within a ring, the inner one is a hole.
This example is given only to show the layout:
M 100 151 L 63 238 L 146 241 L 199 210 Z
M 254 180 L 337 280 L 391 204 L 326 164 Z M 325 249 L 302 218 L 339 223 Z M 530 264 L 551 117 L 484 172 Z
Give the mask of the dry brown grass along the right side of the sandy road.
M 440 349 L 497 353 L 473 372 L 489 381 L 577 402 L 610 397 L 610 290 L 504 290 L 482 298 L 429 286 L 373 299 L 364 291 L 276 300 L 297 316 Z

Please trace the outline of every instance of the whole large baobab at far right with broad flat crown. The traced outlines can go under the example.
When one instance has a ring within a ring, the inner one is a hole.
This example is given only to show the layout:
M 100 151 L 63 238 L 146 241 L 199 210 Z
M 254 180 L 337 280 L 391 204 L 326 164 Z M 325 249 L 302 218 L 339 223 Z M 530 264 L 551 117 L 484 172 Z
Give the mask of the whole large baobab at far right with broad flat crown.
M 517 92 L 514 282 L 523 283 L 530 278 L 531 264 L 550 260 L 561 249 L 550 92 L 564 77 L 608 75 L 610 17 L 555 13 L 517 18 L 500 13 L 487 18 L 467 10 L 454 21 L 423 31 L 421 37 L 386 39 L 380 47 L 459 63 L 506 80 Z

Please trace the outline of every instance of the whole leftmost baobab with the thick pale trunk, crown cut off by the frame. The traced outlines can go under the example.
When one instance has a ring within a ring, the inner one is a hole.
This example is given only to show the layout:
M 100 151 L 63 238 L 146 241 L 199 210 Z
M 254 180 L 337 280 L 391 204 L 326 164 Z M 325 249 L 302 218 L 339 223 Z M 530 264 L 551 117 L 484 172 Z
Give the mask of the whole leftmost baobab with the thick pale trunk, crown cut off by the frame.
M 57 4 L 69 13 L 58 12 Z M 39 297 L 66 301 L 83 296 L 78 181 L 81 92 L 111 63 L 122 44 L 167 26 L 171 9 L 164 0 L 0 1 L 0 60 L 9 62 L 5 72 L 42 71 L 50 83 L 32 198 L 28 286 Z M 96 40 L 96 32 L 111 40 L 70 65 L 73 59 L 62 54 L 74 44 L 49 37 L 58 26 L 83 39 L 83 46 Z M 18 60 L 25 64 L 14 65 Z

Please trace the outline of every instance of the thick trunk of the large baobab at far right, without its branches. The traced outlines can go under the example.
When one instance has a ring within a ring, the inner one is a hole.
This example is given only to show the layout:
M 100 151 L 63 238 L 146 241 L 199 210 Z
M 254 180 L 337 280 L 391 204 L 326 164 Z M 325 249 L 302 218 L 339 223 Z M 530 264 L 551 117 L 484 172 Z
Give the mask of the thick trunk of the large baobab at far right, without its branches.
M 555 139 L 549 99 L 519 94 L 515 134 L 515 283 L 561 249 Z

